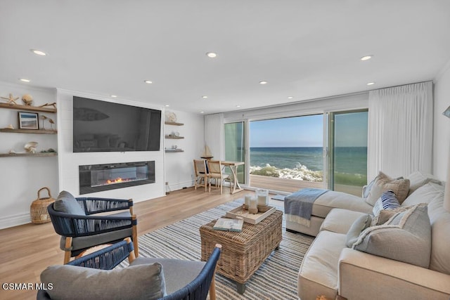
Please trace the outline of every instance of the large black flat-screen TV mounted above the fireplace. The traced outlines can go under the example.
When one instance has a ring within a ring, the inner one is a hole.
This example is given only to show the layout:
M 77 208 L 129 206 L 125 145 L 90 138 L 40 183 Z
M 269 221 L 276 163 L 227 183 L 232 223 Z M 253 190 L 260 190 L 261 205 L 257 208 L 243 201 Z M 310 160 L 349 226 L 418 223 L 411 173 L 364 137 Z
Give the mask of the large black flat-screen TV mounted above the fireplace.
M 161 111 L 73 97 L 73 152 L 159 151 Z

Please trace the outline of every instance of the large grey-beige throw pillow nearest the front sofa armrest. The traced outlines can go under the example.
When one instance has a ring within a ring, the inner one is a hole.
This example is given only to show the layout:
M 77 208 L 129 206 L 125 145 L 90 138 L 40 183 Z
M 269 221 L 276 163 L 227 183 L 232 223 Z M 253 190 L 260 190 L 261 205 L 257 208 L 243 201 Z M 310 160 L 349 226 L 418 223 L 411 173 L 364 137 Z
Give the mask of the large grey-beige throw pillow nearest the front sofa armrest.
M 428 268 L 431 225 L 426 204 L 418 204 L 392 216 L 383 225 L 366 228 L 353 249 Z

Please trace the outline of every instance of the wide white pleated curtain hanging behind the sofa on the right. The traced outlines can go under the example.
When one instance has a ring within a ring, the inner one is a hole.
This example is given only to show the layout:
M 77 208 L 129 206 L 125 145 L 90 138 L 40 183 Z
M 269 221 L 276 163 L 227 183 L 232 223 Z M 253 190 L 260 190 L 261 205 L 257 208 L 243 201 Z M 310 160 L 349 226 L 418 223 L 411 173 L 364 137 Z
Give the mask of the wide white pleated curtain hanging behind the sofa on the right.
M 432 81 L 370 91 L 368 181 L 432 171 Z

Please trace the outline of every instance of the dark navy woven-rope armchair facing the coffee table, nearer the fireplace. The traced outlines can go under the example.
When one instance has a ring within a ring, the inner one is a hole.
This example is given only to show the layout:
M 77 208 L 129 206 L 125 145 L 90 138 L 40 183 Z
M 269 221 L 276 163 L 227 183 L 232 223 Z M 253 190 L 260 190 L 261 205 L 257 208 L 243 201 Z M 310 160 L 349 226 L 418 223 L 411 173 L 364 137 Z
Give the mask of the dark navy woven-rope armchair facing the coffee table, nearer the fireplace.
M 77 197 L 77 203 L 86 215 L 68 214 L 56 211 L 54 203 L 47 207 L 51 223 L 61 236 L 60 249 L 65 252 L 64 263 L 86 249 L 99 244 L 114 243 L 131 237 L 134 252 L 138 254 L 137 219 L 133 214 L 133 200 L 107 199 L 97 197 Z M 111 211 L 116 214 L 101 215 Z

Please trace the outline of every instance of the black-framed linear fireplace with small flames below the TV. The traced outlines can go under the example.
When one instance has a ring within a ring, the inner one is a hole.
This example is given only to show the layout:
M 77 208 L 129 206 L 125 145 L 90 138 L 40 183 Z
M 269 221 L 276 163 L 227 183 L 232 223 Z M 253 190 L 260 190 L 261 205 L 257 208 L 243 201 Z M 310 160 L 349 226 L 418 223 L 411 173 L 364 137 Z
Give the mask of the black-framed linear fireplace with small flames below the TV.
M 155 182 L 155 161 L 79 166 L 79 195 Z

